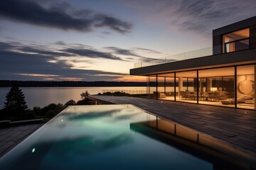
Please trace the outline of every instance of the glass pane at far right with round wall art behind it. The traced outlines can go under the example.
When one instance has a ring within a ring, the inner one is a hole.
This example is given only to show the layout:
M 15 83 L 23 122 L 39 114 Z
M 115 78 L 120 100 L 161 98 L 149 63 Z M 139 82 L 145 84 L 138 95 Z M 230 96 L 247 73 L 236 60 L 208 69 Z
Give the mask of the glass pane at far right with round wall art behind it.
M 237 107 L 256 109 L 255 65 L 237 67 Z

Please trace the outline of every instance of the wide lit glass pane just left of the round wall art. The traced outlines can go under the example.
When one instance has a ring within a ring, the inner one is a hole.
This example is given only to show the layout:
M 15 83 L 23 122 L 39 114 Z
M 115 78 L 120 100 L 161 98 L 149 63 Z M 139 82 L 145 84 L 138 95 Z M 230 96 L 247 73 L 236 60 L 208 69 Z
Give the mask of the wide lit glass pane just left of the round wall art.
M 198 103 L 235 107 L 235 67 L 198 71 Z

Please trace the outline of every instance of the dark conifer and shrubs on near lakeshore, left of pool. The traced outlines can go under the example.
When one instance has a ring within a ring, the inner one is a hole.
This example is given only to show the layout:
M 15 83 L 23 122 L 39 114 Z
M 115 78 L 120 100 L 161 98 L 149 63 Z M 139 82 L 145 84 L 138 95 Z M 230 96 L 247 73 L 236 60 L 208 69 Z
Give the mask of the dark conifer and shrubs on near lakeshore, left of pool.
M 63 109 L 74 105 L 93 105 L 95 101 L 88 98 L 89 92 L 85 91 L 80 94 L 82 100 L 75 102 L 67 101 L 62 103 L 50 103 L 48 106 L 40 108 L 38 106 L 29 109 L 26 105 L 26 100 L 23 92 L 18 86 L 12 86 L 8 94 L 6 94 L 6 102 L 4 108 L 0 110 L 0 120 L 27 120 L 34 118 L 45 118 L 50 120 L 55 115 L 58 115 Z

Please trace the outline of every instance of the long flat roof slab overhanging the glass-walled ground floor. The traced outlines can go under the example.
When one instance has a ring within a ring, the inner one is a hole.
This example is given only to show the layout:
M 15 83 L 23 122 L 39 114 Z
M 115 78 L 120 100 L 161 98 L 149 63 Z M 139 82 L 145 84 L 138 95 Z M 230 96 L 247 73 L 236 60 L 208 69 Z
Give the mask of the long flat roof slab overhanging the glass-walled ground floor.
M 210 55 L 189 60 L 130 69 L 130 75 L 147 76 L 150 74 L 228 67 L 241 64 L 256 64 L 256 49 L 241 50 L 220 55 Z

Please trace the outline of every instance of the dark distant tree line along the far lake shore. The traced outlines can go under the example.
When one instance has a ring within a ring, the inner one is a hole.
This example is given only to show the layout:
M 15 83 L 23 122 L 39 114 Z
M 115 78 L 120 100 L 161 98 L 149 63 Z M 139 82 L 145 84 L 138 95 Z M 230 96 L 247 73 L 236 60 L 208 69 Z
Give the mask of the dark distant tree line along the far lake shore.
M 146 82 L 125 81 L 15 81 L 0 80 L 0 87 L 146 86 Z

